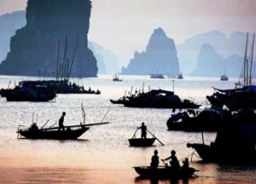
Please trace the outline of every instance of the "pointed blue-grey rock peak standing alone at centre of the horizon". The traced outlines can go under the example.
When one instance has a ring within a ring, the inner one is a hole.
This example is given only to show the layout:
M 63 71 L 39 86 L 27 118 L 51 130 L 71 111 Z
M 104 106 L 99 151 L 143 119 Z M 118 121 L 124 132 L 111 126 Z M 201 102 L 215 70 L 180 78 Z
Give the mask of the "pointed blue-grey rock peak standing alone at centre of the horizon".
M 178 75 L 179 64 L 174 40 L 168 38 L 162 28 L 154 30 L 146 51 L 135 52 L 127 68 L 122 67 L 121 73 Z

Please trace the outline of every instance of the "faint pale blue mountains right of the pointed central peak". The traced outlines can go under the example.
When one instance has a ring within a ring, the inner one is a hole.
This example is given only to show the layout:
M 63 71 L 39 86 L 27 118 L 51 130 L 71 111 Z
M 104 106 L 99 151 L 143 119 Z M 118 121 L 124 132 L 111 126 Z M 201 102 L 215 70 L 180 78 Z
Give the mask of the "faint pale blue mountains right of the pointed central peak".
M 220 76 L 226 69 L 228 76 L 239 77 L 245 54 L 246 34 L 235 32 L 227 38 L 224 33 L 213 30 L 187 39 L 177 46 L 183 74 Z

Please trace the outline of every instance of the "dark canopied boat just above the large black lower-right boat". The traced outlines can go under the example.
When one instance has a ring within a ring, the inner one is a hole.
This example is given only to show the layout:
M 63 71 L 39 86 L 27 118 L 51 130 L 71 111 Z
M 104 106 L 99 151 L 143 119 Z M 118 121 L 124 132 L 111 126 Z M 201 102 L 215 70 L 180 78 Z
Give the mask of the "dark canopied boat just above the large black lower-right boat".
M 216 132 L 221 124 L 230 120 L 230 114 L 230 112 L 220 108 L 204 108 L 201 112 L 184 110 L 172 114 L 166 125 L 168 130 Z

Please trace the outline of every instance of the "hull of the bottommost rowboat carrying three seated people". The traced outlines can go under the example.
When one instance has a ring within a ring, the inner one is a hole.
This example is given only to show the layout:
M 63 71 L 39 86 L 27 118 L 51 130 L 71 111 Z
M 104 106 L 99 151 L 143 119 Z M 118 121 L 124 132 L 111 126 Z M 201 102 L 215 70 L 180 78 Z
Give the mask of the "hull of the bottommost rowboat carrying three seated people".
M 142 178 L 191 178 L 196 176 L 195 168 L 180 168 L 175 170 L 171 166 L 159 166 L 158 168 L 151 168 L 150 166 L 134 167 L 134 170 Z

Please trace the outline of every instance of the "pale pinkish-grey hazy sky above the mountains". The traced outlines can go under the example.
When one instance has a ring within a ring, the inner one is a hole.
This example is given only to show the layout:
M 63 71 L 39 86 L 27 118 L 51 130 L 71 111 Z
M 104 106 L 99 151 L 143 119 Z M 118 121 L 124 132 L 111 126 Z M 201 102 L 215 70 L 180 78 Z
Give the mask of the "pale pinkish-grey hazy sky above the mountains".
M 0 15 L 25 10 L 26 3 L 0 0 Z M 211 30 L 254 33 L 255 20 L 255 0 L 92 0 L 88 40 L 117 54 L 126 67 L 135 51 L 146 50 L 156 28 L 179 45 Z

